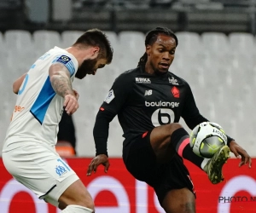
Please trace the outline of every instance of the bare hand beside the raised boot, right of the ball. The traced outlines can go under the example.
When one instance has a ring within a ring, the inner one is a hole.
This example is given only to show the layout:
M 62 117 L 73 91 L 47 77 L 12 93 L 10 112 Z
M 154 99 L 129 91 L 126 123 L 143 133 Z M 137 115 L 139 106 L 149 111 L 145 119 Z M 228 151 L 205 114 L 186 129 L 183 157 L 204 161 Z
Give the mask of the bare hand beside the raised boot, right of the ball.
M 241 158 L 239 167 L 243 164 L 248 164 L 249 168 L 252 167 L 252 158 L 248 155 L 247 151 L 236 143 L 236 141 L 230 142 L 230 151 L 235 154 L 236 158 Z

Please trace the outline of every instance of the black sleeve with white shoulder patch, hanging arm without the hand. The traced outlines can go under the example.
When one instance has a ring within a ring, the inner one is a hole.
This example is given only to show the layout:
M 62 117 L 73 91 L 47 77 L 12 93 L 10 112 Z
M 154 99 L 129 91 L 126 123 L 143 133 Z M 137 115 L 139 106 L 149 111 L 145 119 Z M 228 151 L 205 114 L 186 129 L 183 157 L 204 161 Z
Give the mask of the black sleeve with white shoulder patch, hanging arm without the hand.
M 129 78 L 124 74 L 113 83 L 105 101 L 102 103 L 99 112 L 96 115 L 96 123 L 93 129 L 93 136 L 96 145 L 96 155 L 106 154 L 108 156 L 107 142 L 109 123 L 118 114 L 119 110 L 125 105 L 132 84 Z

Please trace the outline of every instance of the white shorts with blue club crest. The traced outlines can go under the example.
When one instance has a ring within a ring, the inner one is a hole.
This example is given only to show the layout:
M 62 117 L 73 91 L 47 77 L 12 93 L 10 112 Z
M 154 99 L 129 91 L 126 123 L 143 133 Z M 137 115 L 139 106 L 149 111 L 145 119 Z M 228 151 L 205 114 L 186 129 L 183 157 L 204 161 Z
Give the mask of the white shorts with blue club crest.
M 11 145 L 10 145 L 11 146 Z M 3 151 L 6 170 L 21 184 L 46 202 L 58 207 L 61 194 L 79 176 L 55 152 L 55 147 L 38 142 L 20 142 L 14 149 Z

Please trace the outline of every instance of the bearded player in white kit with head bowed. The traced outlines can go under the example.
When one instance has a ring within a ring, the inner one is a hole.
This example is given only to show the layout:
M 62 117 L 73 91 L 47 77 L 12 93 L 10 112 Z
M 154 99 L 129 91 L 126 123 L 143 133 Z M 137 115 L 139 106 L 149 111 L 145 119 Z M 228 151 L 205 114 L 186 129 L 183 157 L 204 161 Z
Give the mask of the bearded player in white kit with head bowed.
M 39 199 L 63 213 L 94 212 L 94 202 L 79 176 L 55 152 L 61 114 L 79 108 L 73 78 L 95 75 L 112 58 L 106 35 L 92 29 L 67 49 L 50 49 L 13 84 L 18 97 L 3 144 L 3 164 Z

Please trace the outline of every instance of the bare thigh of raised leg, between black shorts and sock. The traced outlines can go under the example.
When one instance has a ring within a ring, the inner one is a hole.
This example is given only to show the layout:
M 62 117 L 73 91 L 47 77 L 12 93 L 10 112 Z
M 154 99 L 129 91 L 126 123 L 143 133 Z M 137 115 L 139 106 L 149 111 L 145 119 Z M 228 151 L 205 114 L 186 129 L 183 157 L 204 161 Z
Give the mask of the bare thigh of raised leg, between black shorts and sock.
M 160 159 L 171 155 L 170 152 L 173 151 L 171 136 L 175 130 L 180 128 L 182 128 L 181 124 L 173 123 L 155 127 L 152 130 L 150 144 L 157 158 Z

